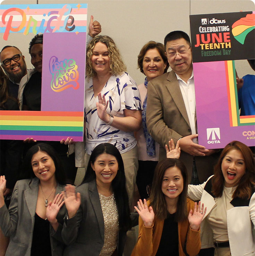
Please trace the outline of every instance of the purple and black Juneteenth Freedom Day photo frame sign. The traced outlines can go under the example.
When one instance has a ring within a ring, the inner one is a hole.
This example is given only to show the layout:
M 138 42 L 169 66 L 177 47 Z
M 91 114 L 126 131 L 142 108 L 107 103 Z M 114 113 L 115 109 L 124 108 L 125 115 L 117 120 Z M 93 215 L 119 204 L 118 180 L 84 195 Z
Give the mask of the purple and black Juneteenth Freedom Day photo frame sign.
M 239 115 L 235 60 L 255 58 L 255 12 L 190 15 L 190 31 L 198 143 L 254 146 L 255 115 Z

